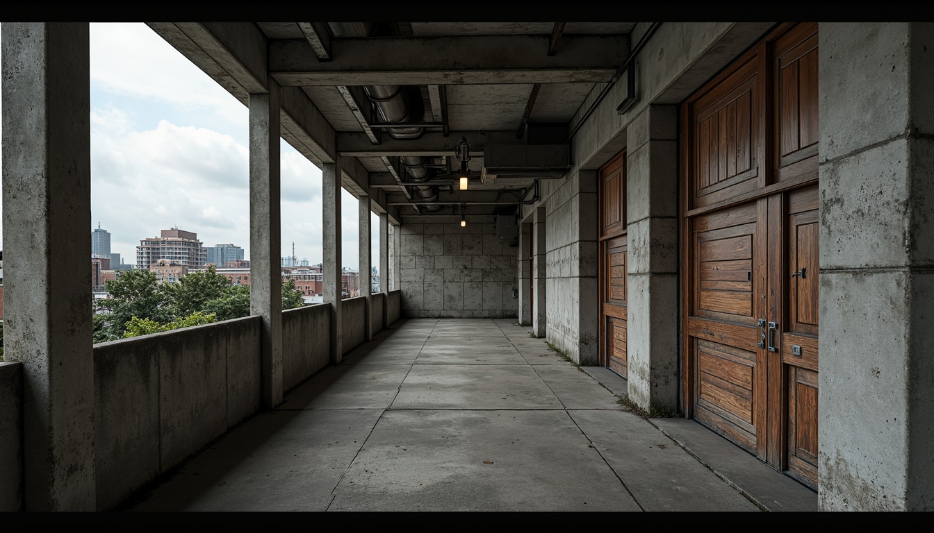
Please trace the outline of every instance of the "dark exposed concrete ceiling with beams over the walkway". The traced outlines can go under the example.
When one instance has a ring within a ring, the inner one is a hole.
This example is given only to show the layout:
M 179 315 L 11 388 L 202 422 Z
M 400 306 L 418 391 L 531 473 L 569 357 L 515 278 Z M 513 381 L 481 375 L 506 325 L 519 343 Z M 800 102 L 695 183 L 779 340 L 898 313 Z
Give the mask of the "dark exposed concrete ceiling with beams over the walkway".
M 454 213 L 448 203 L 458 193 L 467 197 L 454 183 L 461 136 L 472 147 L 470 189 L 480 195 L 467 213 L 488 215 L 515 205 L 536 176 L 481 183 L 484 147 L 563 144 L 586 111 L 587 96 L 629 58 L 635 27 L 635 22 L 336 24 L 149 25 L 244 103 L 248 93 L 275 80 L 289 95 L 283 137 L 316 163 L 349 158 L 347 174 L 358 184 L 355 189 L 385 191 L 380 198 L 398 204 L 399 215 Z M 353 33 L 364 27 L 365 33 Z M 424 127 L 417 139 L 393 138 L 367 92 L 393 85 L 410 88 L 408 123 Z M 296 90 L 306 98 L 290 92 Z M 550 128 L 549 134 L 527 134 L 526 128 L 545 132 L 536 129 L 539 125 Z M 418 188 L 398 185 L 415 181 L 403 157 L 426 165 L 433 203 L 419 196 Z

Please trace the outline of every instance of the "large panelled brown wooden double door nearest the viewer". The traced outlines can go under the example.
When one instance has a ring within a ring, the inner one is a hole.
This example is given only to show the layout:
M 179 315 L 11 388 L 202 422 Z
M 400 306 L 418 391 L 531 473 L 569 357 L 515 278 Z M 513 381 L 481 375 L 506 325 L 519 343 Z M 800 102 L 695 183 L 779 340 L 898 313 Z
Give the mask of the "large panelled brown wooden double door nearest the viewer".
M 686 411 L 817 484 L 817 27 L 682 105 Z

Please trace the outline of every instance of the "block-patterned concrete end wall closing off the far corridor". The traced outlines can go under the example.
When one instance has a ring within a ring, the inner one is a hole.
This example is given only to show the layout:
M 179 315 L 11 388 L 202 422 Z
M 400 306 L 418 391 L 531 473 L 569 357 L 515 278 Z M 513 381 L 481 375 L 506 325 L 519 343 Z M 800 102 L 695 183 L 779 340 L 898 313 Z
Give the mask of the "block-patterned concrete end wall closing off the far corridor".
M 471 220 L 400 226 L 403 316 L 515 317 L 517 248 L 496 236 L 496 225 Z

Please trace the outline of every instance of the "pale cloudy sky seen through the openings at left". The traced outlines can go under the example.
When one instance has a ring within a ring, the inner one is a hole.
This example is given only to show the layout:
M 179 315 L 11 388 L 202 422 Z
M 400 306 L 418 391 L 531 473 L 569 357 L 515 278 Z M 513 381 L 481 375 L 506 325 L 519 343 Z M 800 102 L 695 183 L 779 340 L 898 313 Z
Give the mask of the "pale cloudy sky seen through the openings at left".
M 177 227 L 249 253 L 248 109 L 143 23 L 91 24 L 91 217 L 135 262 Z M 281 142 L 282 252 L 322 259 L 321 171 Z M 343 192 L 343 264 L 356 269 L 357 199 Z M 378 266 L 379 218 L 371 217 Z M 2 243 L 0 231 L 0 243 Z M 2 249 L 2 248 L 0 248 Z M 90 254 L 90 250 L 89 250 Z

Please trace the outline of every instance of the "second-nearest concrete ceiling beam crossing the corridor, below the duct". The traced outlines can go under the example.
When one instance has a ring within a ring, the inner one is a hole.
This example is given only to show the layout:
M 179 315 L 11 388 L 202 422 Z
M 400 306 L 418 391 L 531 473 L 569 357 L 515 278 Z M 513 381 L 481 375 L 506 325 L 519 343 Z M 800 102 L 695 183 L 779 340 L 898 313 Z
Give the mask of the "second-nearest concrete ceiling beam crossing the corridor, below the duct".
M 337 133 L 337 153 L 344 157 L 401 157 L 401 156 L 451 156 L 458 139 L 465 136 L 471 142 L 471 157 L 483 158 L 486 145 L 523 145 L 515 131 L 508 132 L 426 132 L 417 141 L 393 139 L 389 136 L 374 145 L 364 133 Z

